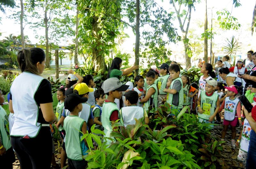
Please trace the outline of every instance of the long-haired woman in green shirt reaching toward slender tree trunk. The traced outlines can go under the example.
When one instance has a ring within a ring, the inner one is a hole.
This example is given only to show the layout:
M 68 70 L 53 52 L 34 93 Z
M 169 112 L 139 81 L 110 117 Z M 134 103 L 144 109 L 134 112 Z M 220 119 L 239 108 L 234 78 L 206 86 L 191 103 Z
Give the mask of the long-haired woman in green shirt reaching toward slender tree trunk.
M 118 57 L 114 58 L 112 60 L 111 66 L 109 67 L 107 78 L 116 77 L 117 79 L 119 79 L 119 76 L 128 75 L 132 73 L 134 70 L 139 69 L 139 65 L 136 65 L 136 66 L 133 65 L 132 67 L 126 68 L 124 70 L 120 70 L 121 66 L 122 66 L 122 59 Z

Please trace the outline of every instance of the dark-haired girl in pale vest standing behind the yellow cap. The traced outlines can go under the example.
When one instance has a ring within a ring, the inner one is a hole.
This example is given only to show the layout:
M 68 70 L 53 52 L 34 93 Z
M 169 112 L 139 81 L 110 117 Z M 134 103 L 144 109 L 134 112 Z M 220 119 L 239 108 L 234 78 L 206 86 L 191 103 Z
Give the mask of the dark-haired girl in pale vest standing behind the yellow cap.
M 93 76 L 91 74 L 87 74 L 83 77 L 83 79 L 83 83 L 86 83 L 89 88 L 93 88 L 93 92 L 89 92 L 89 98 L 87 103 L 91 106 L 95 106 L 94 92 L 95 90 L 97 90 L 97 88 L 95 88 L 96 83 L 94 83 Z

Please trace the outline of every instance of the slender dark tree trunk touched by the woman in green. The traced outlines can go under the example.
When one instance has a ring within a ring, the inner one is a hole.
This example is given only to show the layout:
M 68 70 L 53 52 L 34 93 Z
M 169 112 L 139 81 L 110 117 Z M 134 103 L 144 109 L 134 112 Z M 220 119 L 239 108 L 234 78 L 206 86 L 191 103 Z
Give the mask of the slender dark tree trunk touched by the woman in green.
M 140 0 L 136 0 L 136 26 L 135 26 L 135 65 L 140 64 Z M 138 75 L 138 69 L 135 70 L 134 76 Z

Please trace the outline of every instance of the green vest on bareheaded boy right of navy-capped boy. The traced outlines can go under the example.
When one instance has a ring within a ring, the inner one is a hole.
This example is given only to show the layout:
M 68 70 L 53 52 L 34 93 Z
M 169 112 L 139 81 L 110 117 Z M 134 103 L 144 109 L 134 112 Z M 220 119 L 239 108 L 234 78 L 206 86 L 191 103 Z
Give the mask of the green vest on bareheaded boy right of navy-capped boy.
M 177 109 L 182 109 L 183 103 L 184 103 L 184 96 L 183 96 L 184 93 L 183 93 L 183 86 L 182 86 L 183 83 L 182 83 L 181 78 L 178 77 L 178 78 L 174 79 L 174 80 L 172 81 L 172 84 L 171 84 L 171 86 L 170 86 L 169 89 L 172 89 L 172 85 L 174 84 L 175 81 L 180 81 L 180 83 L 181 83 L 181 89 L 180 89 L 180 91 L 177 91 L 177 92 L 179 93 L 179 105 L 178 105 L 178 106 L 172 105 L 173 94 L 170 94 L 170 93 L 167 93 L 166 102 L 169 103 L 169 104 L 171 104 L 172 107 L 175 107 L 175 108 L 177 108 Z

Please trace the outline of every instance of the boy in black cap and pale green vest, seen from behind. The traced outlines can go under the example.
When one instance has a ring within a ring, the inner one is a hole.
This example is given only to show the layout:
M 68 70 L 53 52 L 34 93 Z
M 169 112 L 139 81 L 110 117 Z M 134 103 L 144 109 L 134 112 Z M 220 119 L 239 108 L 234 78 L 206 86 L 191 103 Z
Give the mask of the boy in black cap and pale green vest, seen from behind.
M 66 131 L 65 148 L 68 156 L 68 168 L 86 168 L 87 162 L 83 156 L 88 154 L 88 145 L 86 138 L 81 141 L 83 134 L 87 133 L 87 125 L 84 119 L 78 117 L 78 113 L 82 111 L 83 104 L 88 99 L 80 97 L 77 94 L 70 94 L 64 101 L 65 109 L 70 114 L 65 118 L 63 128 Z

